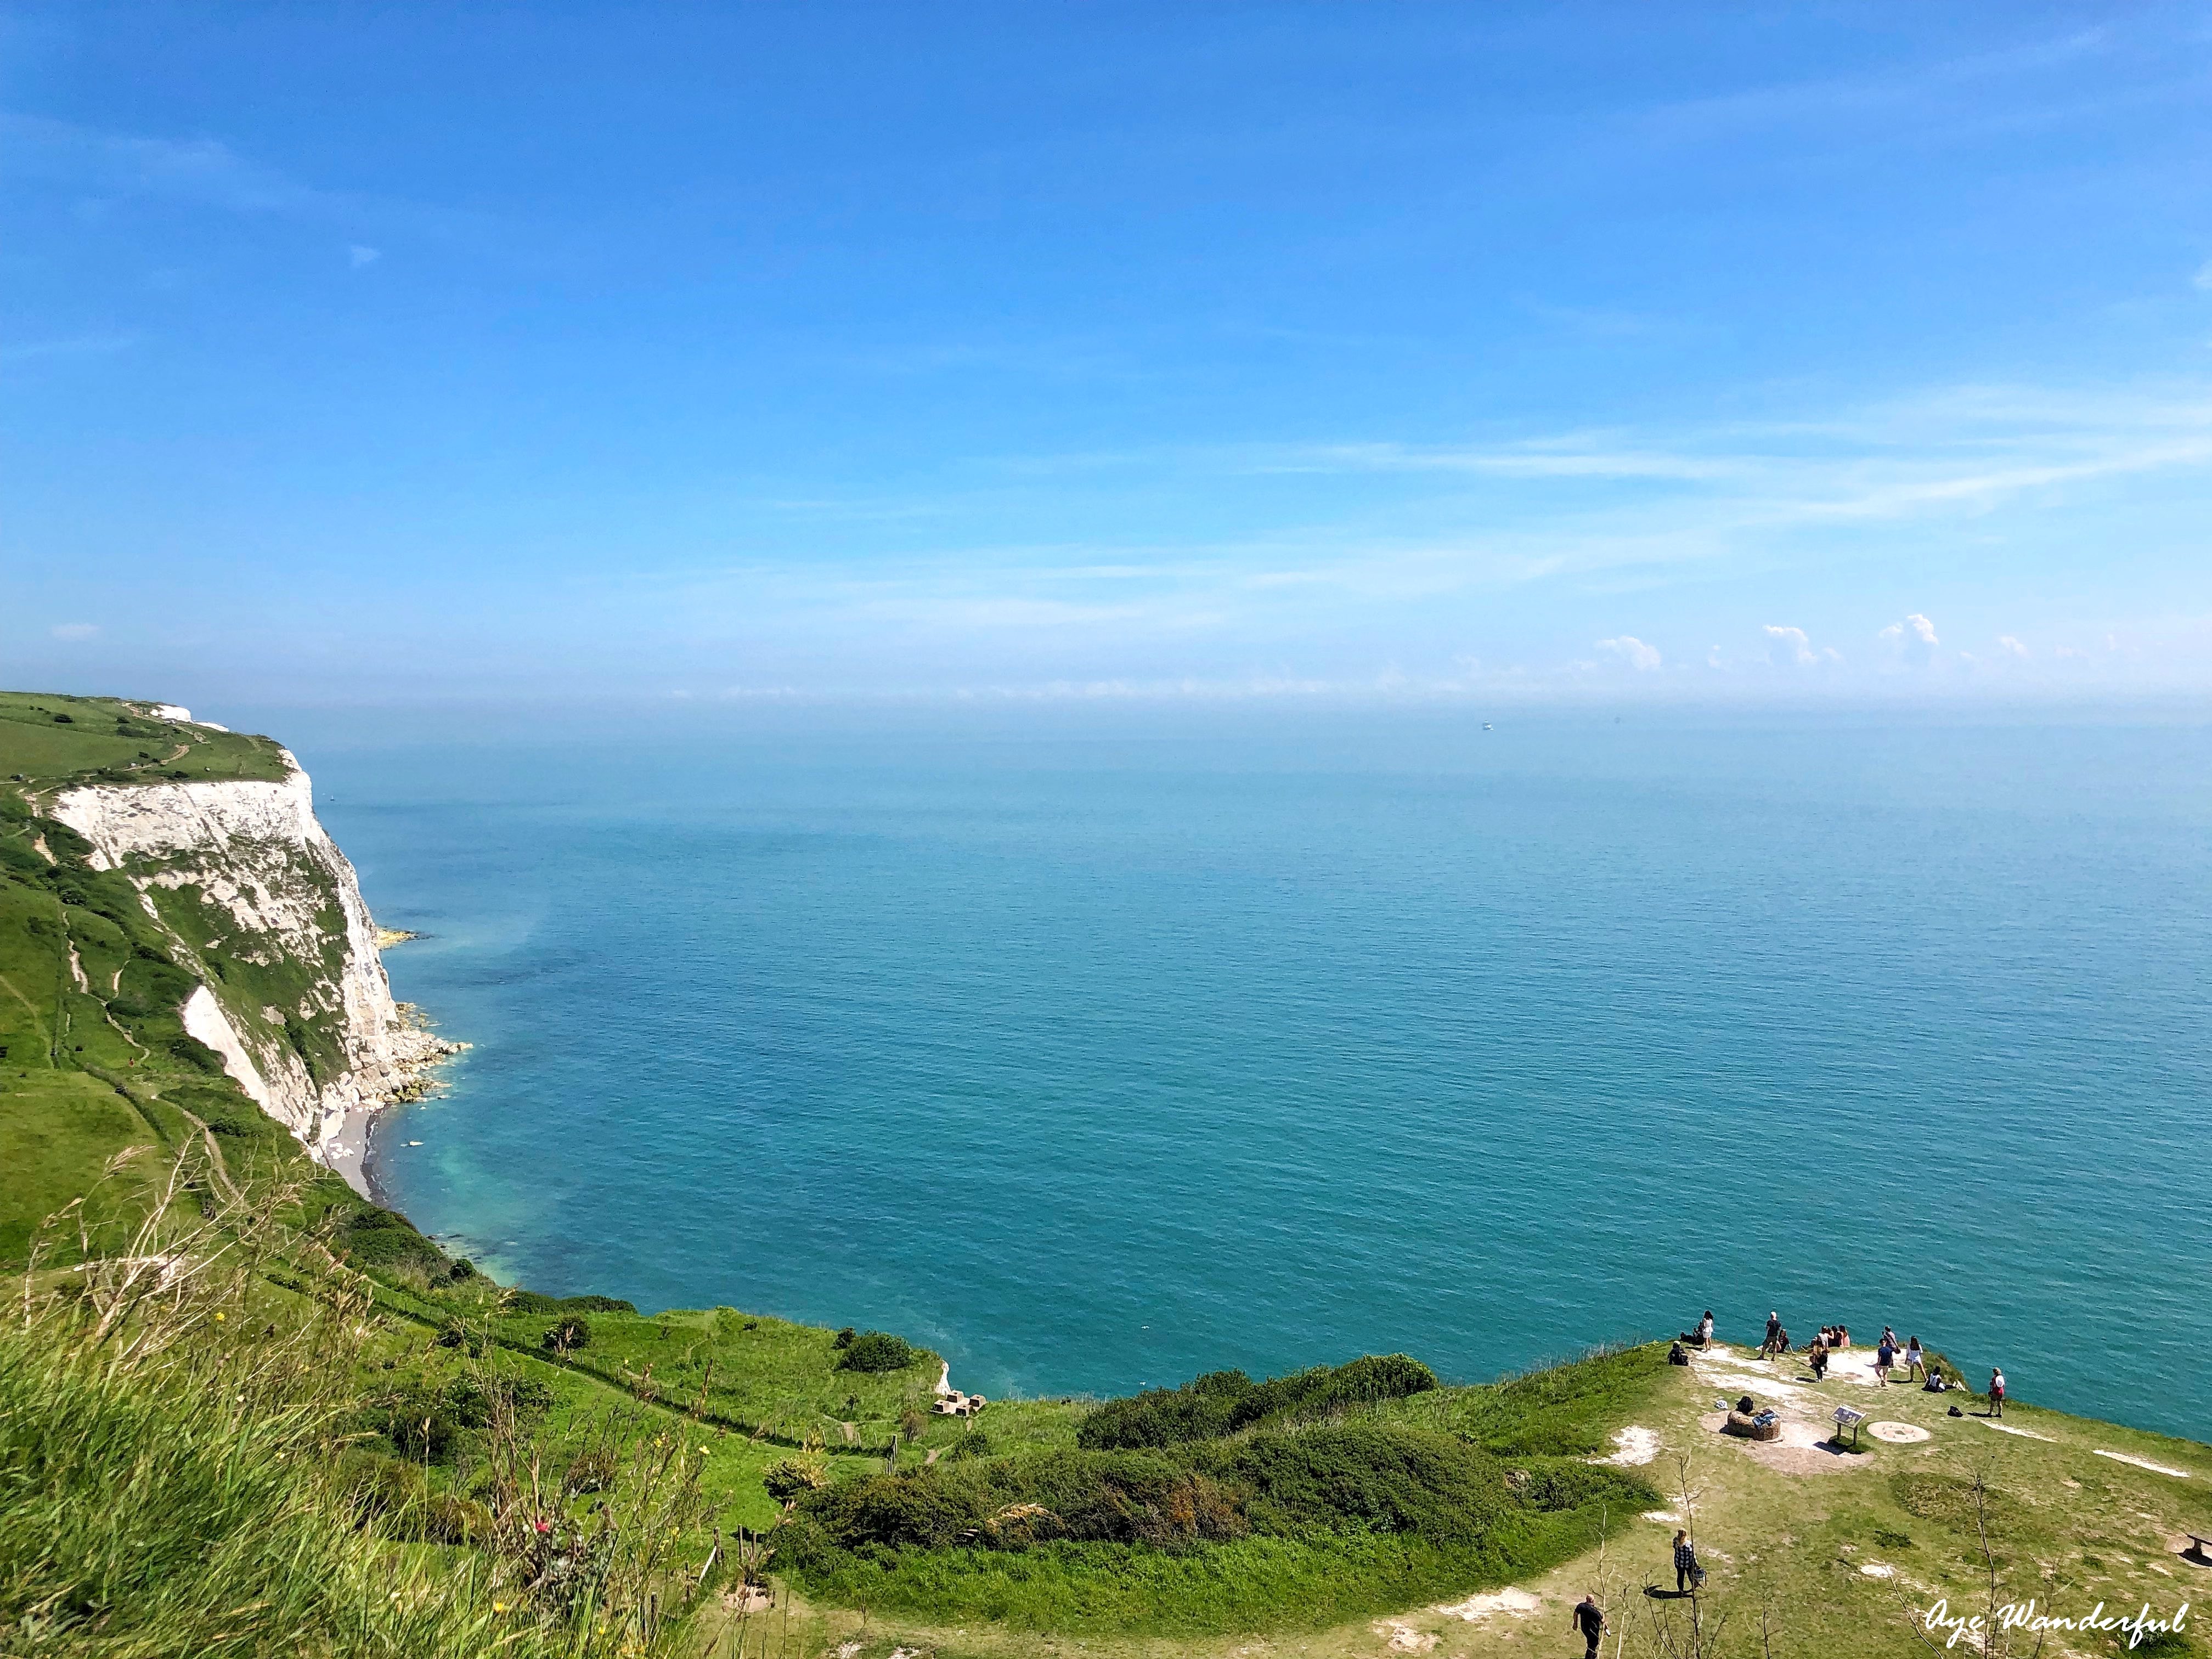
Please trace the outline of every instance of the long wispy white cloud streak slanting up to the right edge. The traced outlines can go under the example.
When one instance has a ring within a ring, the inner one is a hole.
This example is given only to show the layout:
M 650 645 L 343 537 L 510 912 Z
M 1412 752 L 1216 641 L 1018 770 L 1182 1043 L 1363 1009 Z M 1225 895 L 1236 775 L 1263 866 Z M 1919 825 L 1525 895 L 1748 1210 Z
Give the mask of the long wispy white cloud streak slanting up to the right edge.
M 1940 387 L 1761 422 L 1573 429 L 1458 445 L 1338 438 L 1161 447 L 1079 460 L 1164 491 L 1248 491 L 1241 502 L 1290 507 L 1272 529 L 1234 540 L 1161 533 L 991 544 L 929 533 L 933 549 L 898 557 L 872 551 L 830 564 L 763 557 L 719 573 L 670 571 L 659 580 L 664 604 L 690 617 L 732 617 L 732 628 L 765 615 L 803 619 L 825 641 L 841 630 L 878 637 L 872 630 L 896 628 L 902 644 L 929 641 L 947 659 L 975 664 L 1004 653 L 1075 653 L 1099 664 L 1161 655 L 1221 661 L 1252 648 L 1310 650 L 1316 661 L 1340 664 L 1356 650 L 1380 655 L 1391 639 L 1438 639 L 1455 617 L 1469 630 L 1486 628 L 1493 599 L 1515 588 L 1542 588 L 1540 606 L 1559 613 L 1593 595 L 1688 593 L 1721 575 L 1854 560 L 1893 566 L 1907 549 L 1940 560 L 1964 544 L 2008 540 L 2022 557 L 2039 549 L 2033 557 L 2044 564 L 2077 557 L 2070 549 L 2079 526 L 2106 522 L 2115 500 L 2135 511 L 2157 487 L 2179 511 L 2203 495 L 2212 480 L 2212 389 Z M 1064 518 L 1071 509 L 1062 489 L 1037 487 L 1060 478 L 1053 458 L 1020 462 L 991 465 L 1011 480 L 1004 500 L 1018 511 L 993 504 L 971 469 L 953 491 L 874 502 L 856 524 L 894 524 L 909 507 L 920 522 L 931 504 L 953 533 L 973 533 L 982 513 L 1000 522 Z M 1369 482 L 1347 493 L 1325 484 L 1329 476 Z M 1276 484 L 1294 478 L 1325 487 Z M 1091 484 L 1088 471 L 1075 480 L 1068 489 L 1115 493 L 1124 482 Z M 2115 493 L 2119 484 L 2124 495 Z M 1345 511 L 1345 500 L 1363 511 Z M 958 511 L 945 511 L 947 502 Z M 1681 606 L 1681 597 L 1668 599 L 1674 626 Z M 1809 622 L 1867 639 L 1882 615 L 1829 606 L 1827 617 Z M 1854 661 L 1865 670 L 1940 666 L 1936 624 L 1924 611 L 1882 628 L 1871 653 L 1838 650 L 1801 619 L 1743 626 L 1752 637 L 1741 666 L 1770 675 L 1818 670 L 1827 684 L 1849 679 Z M 1705 653 L 1705 637 L 1697 626 L 1692 639 L 1670 639 L 1655 622 L 1608 633 L 1597 655 L 1635 668 L 1637 679 L 1672 681 L 1674 664 Z M 1504 657 L 1526 641 L 1462 633 L 1455 648 L 1467 646 Z M 1736 666 L 1734 653 L 1730 646 L 1721 666 Z

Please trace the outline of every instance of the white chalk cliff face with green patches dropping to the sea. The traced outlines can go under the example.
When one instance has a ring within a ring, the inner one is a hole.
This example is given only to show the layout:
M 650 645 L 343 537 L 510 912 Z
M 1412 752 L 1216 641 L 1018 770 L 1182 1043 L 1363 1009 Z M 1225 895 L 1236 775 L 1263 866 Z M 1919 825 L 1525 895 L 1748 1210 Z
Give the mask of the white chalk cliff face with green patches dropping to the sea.
M 201 989 L 184 1024 L 270 1117 L 319 1146 L 349 1108 L 403 1099 L 451 1044 L 392 1000 L 354 867 L 281 783 L 64 790 L 53 816 L 93 843 L 161 922 Z

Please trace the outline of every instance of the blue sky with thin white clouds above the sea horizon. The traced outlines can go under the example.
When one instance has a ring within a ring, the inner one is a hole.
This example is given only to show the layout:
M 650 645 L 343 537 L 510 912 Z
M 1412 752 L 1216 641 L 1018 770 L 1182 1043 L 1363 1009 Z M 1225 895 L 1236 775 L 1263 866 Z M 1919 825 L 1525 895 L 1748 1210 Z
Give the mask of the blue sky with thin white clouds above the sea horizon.
M 2212 688 L 2201 4 L 0 18 L 9 684 Z

